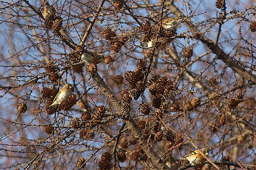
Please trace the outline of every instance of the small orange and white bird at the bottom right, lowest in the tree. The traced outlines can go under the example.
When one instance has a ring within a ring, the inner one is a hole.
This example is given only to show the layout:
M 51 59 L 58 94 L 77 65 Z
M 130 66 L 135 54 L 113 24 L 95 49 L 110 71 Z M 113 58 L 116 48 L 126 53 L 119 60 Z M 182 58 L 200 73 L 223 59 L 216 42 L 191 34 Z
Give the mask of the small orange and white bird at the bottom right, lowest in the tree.
M 208 148 L 203 148 L 203 149 L 200 149 L 200 151 L 205 155 L 205 156 L 208 156 L 208 152 L 209 152 L 209 149 Z M 206 159 L 204 158 L 204 156 L 200 153 L 199 150 L 196 150 L 194 152 L 191 152 L 190 154 L 188 154 L 185 159 L 189 161 L 189 163 L 191 165 L 195 165 L 196 162 L 203 162 L 205 161 Z

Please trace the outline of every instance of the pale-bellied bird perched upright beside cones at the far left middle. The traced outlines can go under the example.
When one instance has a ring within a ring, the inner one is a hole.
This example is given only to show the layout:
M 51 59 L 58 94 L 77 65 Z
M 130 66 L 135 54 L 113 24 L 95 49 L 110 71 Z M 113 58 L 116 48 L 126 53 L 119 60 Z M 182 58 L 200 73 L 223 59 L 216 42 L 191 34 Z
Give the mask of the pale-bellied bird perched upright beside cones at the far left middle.
M 53 103 L 50 106 L 59 105 L 61 101 L 67 100 L 69 95 L 72 94 L 72 91 L 74 90 L 74 86 L 72 84 L 66 84 L 64 87 L 62 87 L 57 95 L 55 96 Z

